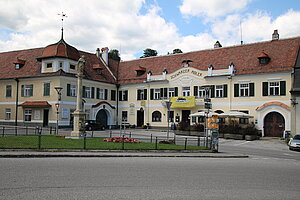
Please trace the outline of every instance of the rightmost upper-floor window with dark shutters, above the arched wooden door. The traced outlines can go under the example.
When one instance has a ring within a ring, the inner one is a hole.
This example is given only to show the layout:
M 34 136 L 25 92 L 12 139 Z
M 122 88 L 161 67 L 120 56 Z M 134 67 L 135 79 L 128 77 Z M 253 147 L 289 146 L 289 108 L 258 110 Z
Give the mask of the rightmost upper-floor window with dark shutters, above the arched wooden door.
M 263 96 L 285 96 L 285 95 L 286 95 L 285 81 L 263 82 Z

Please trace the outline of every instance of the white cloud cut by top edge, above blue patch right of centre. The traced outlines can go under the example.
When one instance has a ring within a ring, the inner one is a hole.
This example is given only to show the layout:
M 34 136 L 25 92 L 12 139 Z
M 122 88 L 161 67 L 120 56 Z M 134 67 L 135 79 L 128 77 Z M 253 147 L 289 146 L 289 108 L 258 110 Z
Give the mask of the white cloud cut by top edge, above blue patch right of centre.
M 241 11 L 251 0 L 184 0 L 179 7 L 185 16 L 220 17 Z

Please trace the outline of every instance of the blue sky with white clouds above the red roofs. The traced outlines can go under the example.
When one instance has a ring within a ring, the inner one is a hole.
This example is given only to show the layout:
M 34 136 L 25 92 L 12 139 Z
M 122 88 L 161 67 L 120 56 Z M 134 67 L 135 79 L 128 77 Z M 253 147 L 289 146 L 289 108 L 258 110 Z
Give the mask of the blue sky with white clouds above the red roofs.
M 117 49 L 122 60 L 300 36 L 299 0 L 0 0 L 0 52 L 46 47 Z

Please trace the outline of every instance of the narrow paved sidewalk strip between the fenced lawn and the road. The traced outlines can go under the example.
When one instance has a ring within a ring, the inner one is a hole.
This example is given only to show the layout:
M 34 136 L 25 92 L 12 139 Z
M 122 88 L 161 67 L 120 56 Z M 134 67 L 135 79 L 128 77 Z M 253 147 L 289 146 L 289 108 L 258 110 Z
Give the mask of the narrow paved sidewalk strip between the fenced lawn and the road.
M 49 157 L 187 157 L 187 158 L 248 158 L 242 154 L 211 153 L 209 151 L 97 151 L 97 150 L 28 150 L 3 149 L 0 158 L 49 158 Z

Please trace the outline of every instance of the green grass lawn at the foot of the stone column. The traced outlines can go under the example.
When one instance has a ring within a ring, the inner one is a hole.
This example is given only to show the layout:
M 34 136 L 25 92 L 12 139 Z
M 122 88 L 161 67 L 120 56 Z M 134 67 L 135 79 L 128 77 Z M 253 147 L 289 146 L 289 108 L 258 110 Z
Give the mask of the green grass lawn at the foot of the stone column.
M 104 138 L 86 138 L 86 149 L 121 150 L 122 143 L 105 142 Z M 40 147 L 42 149 L 83 149 L 84 139 L 65 139 L 54 135 L 42 135 Z M 0 149 L 37 149 L 39 138 L 32 136 L 0 137 Z M 171 144 L 157 144 L 159 150 L 184 150 L 184 146 Z M 125 150 L 156 149 L 155 143 L 124 143 Z M 205 147 L 187 146 L 187 150 L 205 150 Z

